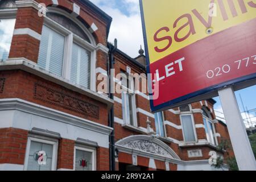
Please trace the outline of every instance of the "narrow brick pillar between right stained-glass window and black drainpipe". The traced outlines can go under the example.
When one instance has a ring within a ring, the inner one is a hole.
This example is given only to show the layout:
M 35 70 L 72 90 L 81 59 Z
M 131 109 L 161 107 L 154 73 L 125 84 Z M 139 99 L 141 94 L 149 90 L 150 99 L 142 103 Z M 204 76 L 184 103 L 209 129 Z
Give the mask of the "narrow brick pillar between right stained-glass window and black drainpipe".
M 97 171 L 109 171 L 109 148 L 97 148 Z

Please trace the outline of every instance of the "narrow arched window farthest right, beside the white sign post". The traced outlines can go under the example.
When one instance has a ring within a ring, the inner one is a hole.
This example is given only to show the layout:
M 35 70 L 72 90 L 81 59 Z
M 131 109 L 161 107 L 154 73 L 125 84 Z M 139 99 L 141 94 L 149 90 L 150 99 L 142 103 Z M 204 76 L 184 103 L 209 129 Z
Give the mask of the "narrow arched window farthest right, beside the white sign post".
M 209 143 L 212 143 L 216 145 L 216 139 L 214 137 L 214 124 L 212 121 L 212 115 L 210 115 L 209 110 L 207 107 L 203 107 L 203 120 L 204 120 L 204 128 L 205 128 L 205 133 L 207 135 L 207 140 Z

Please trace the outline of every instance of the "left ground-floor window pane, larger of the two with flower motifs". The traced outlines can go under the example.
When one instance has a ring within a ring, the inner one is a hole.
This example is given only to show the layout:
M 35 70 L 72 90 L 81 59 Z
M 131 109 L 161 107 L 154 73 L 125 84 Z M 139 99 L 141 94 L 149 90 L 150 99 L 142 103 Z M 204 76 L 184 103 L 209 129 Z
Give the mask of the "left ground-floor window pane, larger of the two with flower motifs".
M 39 165 L 38 152 L 46 152 L 46 164 Z M 52 169 L 53 145 L 31 141 L 28 156 L 28 171 L 51 171 Z

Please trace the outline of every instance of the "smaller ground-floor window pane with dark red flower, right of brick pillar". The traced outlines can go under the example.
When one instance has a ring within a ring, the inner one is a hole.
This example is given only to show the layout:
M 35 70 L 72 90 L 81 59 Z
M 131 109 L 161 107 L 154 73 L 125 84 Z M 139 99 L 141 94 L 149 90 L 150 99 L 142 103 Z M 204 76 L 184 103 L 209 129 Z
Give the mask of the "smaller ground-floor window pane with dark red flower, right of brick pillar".
M 92 171 L 92 152 L 76 150 L 76 161 L 75 170 L 76 171 Z

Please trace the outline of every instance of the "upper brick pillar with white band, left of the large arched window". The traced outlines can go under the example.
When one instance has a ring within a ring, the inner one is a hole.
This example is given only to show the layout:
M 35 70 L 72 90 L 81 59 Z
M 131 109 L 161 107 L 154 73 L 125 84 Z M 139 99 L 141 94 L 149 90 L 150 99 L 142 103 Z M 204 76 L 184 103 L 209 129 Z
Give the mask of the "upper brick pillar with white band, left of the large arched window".
M 38 35 L 42 34 L 43 19 L 38 16 L 38 10 L 33 7 L 18 9 L 14 28 L 16 35 L 13 36 L 11 42 L 9 58 L 25 57 L 37 63 L 40 46 Z M 28 28 L 28 30 L 24 31 L 24 28 Z M 28 35 L 27 32 L 33 36 Z

